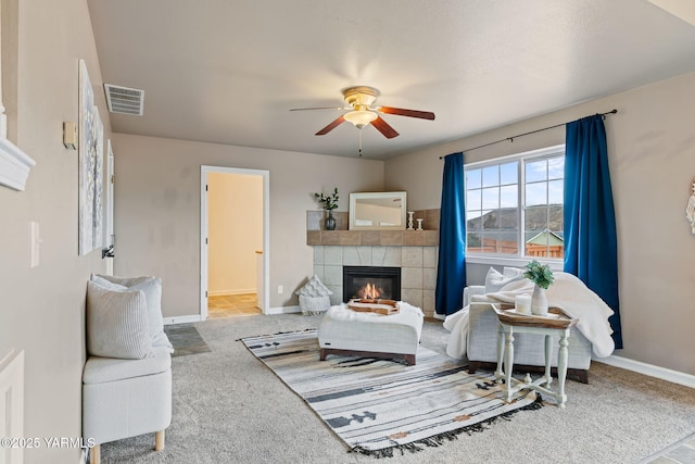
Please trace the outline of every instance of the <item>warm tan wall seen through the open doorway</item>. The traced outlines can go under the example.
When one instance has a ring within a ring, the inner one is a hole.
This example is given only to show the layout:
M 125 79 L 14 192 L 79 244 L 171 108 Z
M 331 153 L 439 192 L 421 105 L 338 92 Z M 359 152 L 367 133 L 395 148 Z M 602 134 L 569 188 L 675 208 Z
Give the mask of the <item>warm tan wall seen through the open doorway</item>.
M 263 250 L 263 177 L 207 175 L 207 291 L 256 291 L 256 250 Z

